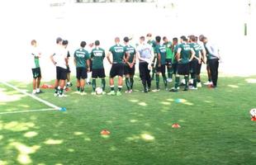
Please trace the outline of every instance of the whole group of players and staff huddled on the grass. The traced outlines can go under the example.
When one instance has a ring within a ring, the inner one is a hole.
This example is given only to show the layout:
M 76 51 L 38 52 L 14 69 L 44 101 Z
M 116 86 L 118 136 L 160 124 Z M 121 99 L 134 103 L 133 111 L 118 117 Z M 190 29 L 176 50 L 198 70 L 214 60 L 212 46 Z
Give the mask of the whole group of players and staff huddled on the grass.
M 201 44 L 197 40 L 201 41 Z M 102 94 L 106 94 L 106 74 L 103 65 L 105 57 L 111 64 L 109 73 L 109 85 L 111 92 L 108 95 L 121 96 L 123 87 L 123 76 L 127 87 L 127 93 L 133 92 L 135 64 L 138 60 L 140 70 L 140 80 L 144 87 L 143 92 L 151 91 L 151 82 L 155 80 L 156 88 L 152 92 L 160 90 L 160 74 L 164 81 L 164 88 L 168 90 L 168 82 L 173 81 L 174 87 L 170 92 L 178 92 L 180 85 L 184 85 L 183 91 L 188 89 L 197 89 L 201 87 L 201 64 L 207 64 L 208 78 L 210 87 L 217 87 L 219 53 L 218 50 L 208 43 L 206 36 L 195 35 L 181 36 L 180 43 L 178 38 L 168 40 L 166 36 L 163 39 L 156 36 L 154 39 L 151 34 L 140 37 L 140 43 L 133 47 L 129 43 L 130 39 L 124 37 L 123 45 L 119 37 L 115 38 L 115 45 L 111 46 L 107 54 L 101 48 L 100 41 L 96 40 L 94 48 L 88 52 L 85 50 L 87 43 L 82 41 L 80 48 L 74 51 L 73 59 L 76 67 L 77 93 L 81 95 L 84 92 L 85 79 L 88 73 L 92 72 L 92 95 L 96 95 L 97 78 L 101 79 Z M 69 50 L 67 50 L 68 40 L 57 38 L 55 53 L 50 55 L 50 59 L 56 66 L 55 97 L 64 97 L 64 87 L 68 79 L 67 86 L 70 86 L 69 69 Z M 40 93 L 40 52 L 36 50 L 36 40 L 31 41 L 32 59 L 33 59 L 33 93 Z M 91 46 L 93 46 L 91 45 Z M 166 69 L 168 77 L 166 77 Z M 150 72 L 152 70 L 152 76 Z M 210 74 L 211 73 L 211 74 Z M 184 76 L 184 82 L 180 82 L 180 76 Z M 118 89 L 115 91 L 114 78 L 118 77 Z M 191 78 L 192 81 L 189 81 Z M 189 83 L 190 82 L 190 83 Z

